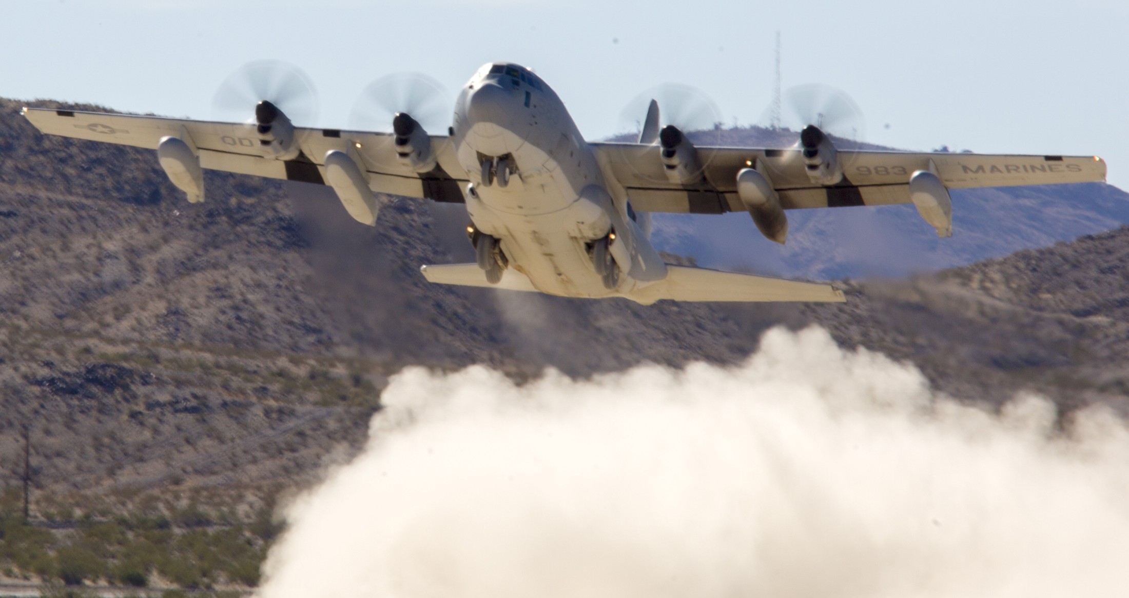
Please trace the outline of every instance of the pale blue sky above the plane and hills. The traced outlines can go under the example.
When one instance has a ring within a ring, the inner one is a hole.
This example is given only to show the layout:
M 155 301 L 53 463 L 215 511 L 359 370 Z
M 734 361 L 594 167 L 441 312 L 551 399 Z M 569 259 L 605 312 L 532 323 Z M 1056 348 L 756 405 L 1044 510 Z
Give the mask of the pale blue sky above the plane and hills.
M 454 93 L 482 63 L 534 68 L 586 135 L 616 132 L 640 91 L 700 88 L 747 124 L 785 88 L 846 90 L 866 140 L 904 149 L 1096 153 L 1129 186 L 1129 2 L 611 0 L 42 0 L 0 2 L 0 96 L 208 118 L 257 59 L 314 80 L 318 124 L 348 124 L 380 76 Z M 250 111 L 250 107 L 248 107 Z M 886 127 L 885 125 L 890 126 Z

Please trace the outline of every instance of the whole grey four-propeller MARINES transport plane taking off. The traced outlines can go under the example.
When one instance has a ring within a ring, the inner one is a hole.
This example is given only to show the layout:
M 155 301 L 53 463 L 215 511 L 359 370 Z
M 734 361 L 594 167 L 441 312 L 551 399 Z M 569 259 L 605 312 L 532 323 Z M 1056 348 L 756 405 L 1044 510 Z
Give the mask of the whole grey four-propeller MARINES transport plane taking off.
M 528 69 L 485 64 L 462 88 L 446 135 L 406 112 L 387 133 L 296 126 L 256 97 L 254 122 L 25 108 L 44 133 L 157 150 L 189 201 L 202 169 L 325 184 L 375 225 L 374 193 L 466 204 L 476 264 L 425 265 L 431 282 L 566 297 L 681 301 L 842 301 L 830 284 L 665 264 L 637 214 L 747 211 L 777 243 L 786 210 L 913 203 L 952 234 L 948 190 L 1104 181 L 1096 157 L 837 149 L 811 124 L 786 149 L 694 147 L 650 102 L 637 142 L 588 142 Z M 391 115 L 390 115 L 391 116 Z

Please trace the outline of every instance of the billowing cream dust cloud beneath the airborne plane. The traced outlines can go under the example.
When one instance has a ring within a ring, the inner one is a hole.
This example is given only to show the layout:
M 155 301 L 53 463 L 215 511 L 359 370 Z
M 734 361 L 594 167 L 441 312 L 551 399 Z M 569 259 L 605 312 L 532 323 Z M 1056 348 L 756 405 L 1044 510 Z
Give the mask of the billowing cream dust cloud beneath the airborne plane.
M 408 369 L 384 403 L 259 596 L 1129 595 L 1123 422 L 962 406 L 819 328 L 730 368 Z

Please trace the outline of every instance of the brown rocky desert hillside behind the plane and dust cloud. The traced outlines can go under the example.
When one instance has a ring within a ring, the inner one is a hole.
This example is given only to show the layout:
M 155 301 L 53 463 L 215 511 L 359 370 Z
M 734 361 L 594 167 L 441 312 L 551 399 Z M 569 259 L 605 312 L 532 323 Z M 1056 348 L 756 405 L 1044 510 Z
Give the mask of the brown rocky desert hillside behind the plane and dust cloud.
M 774 325 L 825 326 L 966 401 L 1032 389 L 1066 411 L 1127 403 L 1129 229 L 852 282 L 833 306 L 455 289 L 418 269 L 470 260 L 458 205 L 390 197 L 368 228 L 324 187 L 210 172 L 208 202 L 191 205 L 151 151 L 44 138 L 20 106 L 0 102 L 0 465 L 19 471 L 30 425 L 41 512 L 146 496 L 254 511 L 356 450 L 405 364 L 520 379 L 732 363 Z M 1035 197 L 1120 197 L 1099 185 L 1022 193 L 1032 211 Z M 793 240 L 816 246 L 820 230 L 799 226 Z

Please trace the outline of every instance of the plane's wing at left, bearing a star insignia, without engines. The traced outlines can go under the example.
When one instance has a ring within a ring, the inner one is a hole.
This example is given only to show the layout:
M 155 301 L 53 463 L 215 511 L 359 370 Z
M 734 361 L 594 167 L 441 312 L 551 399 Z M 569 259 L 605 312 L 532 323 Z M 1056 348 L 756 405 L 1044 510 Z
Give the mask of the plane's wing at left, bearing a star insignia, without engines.
M 49 108 L 24 108 L 24 116 L 42 133 L 139 148 L 157 149 L 163 137 L 176 135 L 191 140 L 203 168 L 304 183 L 325 183 L 324 157 L 335 149 L 360 158 L 375 192 L 443 202 L 464 201 L 460 181 L 447 174 L 461 169 L 454 146 L 446 137 L 431 137 L 438 166 L 430 173 L 417 174 L 396 160 L 391 133 L 295 127 L 301 153 L 292 160 L 277 160 L 260 150 L 255 125 L 251 123 Z

